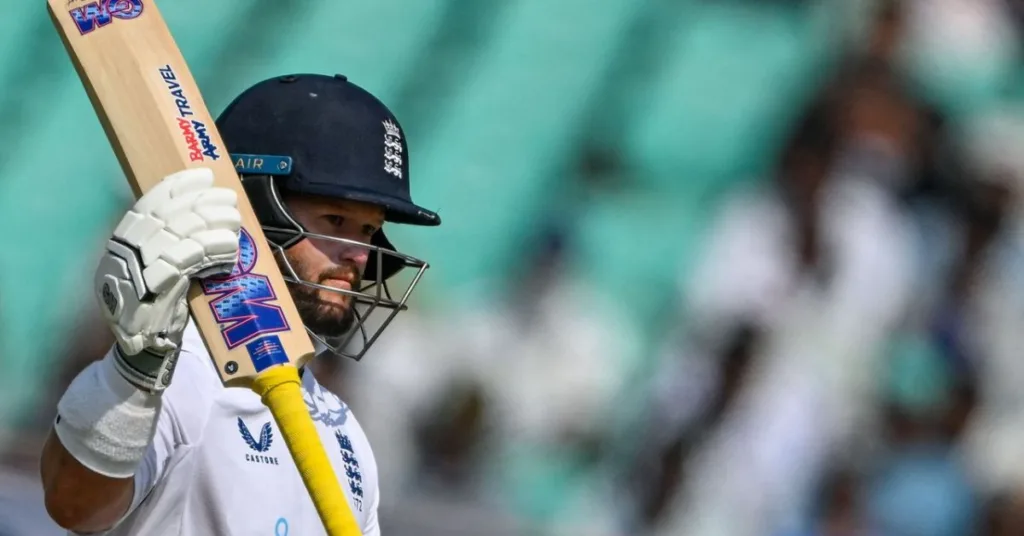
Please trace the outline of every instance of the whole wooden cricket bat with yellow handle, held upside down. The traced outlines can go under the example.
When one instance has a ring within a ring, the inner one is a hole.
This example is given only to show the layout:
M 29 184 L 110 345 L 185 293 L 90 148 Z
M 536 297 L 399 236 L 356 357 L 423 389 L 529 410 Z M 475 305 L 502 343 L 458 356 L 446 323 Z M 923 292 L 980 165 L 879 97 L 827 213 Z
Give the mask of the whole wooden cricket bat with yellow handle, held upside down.
M 270 409 L 331 536 L 361 534 L 302 400 L 298 367 L 313 355 L 230 155 L 154 0 L 47 0 L 136 197 L 189 167 L 239 194 L 239 262 L 193 283 L 188 305 L 225 386 Z

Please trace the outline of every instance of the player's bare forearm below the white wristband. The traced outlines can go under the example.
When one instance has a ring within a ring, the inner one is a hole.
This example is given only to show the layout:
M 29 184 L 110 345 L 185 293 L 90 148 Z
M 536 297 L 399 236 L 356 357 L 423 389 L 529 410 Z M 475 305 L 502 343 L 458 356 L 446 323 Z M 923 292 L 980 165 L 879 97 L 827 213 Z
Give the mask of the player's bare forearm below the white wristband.
M 46 511 L 61 528 L 91 533 L 110 529 L 131 505 L 135 481 L 115 479 L 82 465 L 52 431 L 40 470 Z

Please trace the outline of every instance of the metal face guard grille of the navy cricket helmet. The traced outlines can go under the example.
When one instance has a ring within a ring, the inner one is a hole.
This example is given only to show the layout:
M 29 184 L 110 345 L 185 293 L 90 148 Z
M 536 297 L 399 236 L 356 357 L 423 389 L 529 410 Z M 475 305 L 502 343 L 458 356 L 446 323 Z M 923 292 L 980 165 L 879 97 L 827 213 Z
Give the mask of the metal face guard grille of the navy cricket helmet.
M 306 328 L 309 335 L 332 354 L 359 361 L 377 341 L 395 316 L 408 308 L 407 302 L 429 264 L 394 250 L 383 231 L 370 244 L 306 231 L 289 212 L 268 175 L 244 176 L 248 197 L 259 215 L 260 226 L 282 267 L 287 283 L 316 291 L 333 292 L 348 298 L 352 326 L 340 336 L 327 336 Z M 304 239 L 315 239 L 367 249 L 369 260 L 358 288 L 340 289 L 302 279 L 285 254 L 288 248 Z M 400 292 L 392 293 L 388 280 L 403 270 L 415 271 Z M 375 314 L 377 314 L 375 316 Z M 381 319 L 377 322 L 377 319 Z M 371 321 L 374 321 L 371 324 Z M 356 335 L 358 335 L 356 337 Z

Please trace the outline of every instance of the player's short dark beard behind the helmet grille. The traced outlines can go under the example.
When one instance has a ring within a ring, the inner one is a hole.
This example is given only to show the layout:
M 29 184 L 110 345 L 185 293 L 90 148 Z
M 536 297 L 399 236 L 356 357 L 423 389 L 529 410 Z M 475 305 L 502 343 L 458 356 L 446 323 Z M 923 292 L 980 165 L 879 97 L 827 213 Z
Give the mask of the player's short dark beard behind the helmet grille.
M 350 281 L 352 290 L 357 290 L 361 286 L 361 278 L 354 264 L 332 266 L 315 274 L 301 260 L 288 255 L 287 252 L 285 255 L 300 281 L 326 285 L 325 281 L 335 279 Z M 284 271 L 288 273 L 287 269 Z M 313 333 L 325 338 L 340 337 L 347 334 L 355 325 L 352 296 L 297 283 L 289 283 L 288 288 L 299 311 L 299 317 Z M 329 294 L 340 296 L 342 301 L 339 303 L 326 299 Z

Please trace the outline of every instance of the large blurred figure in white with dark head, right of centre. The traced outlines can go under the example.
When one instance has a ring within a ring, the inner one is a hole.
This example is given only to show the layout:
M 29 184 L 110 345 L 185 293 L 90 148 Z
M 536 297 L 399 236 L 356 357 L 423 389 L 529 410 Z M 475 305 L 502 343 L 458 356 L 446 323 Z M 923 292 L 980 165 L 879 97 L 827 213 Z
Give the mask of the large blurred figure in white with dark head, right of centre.
M 732 407 L 684 460 L 687 478 L 654 534 L 798 527 L 829 456 L 873 420 L 872 373 L 905 313 L 914 270 L 912 226 L 897 194 L 916 174 L 925 127 L 880 60 L 898 24 L 894 12 L 883 14 L 872 36 L 882 50 L 869 49 L 823 92 L 821 128 L 798 130 L 807 141 L 783 152 L 774 187 L 726 203 L 685 282 L 685 308 L 701 335 L 667 356 L 670 370 L 680 370 L 664 377 L 690 376 L 690 386 L 667 389 L 665 413 L 699 404 L 699 371 L 716 367 L 701 357 L 715 355 L 702 336 L 739 320 L 762 337 Z M 823 150 L 809 150 L 829 135 Z

